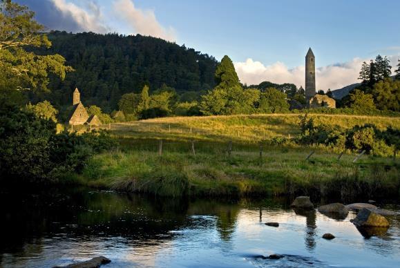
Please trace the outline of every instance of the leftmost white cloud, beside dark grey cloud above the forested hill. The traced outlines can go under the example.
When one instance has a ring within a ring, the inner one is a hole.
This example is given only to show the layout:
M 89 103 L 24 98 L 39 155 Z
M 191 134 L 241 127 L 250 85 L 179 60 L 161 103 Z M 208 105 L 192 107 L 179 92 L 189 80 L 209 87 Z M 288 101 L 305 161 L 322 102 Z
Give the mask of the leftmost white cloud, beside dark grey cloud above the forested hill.
M 51 0 L 64 17 L 71 17 L 85 31 L 106 33 L 111 29 L 104 23 L 102 12 L 97 3 L 88 1 L 88 10 L 65 0 Z

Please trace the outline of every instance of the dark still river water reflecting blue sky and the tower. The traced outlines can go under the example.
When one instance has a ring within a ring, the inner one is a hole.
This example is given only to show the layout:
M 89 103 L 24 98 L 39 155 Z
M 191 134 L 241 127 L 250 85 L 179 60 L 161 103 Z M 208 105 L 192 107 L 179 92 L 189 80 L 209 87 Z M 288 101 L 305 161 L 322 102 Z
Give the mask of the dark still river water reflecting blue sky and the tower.
M 3 189 L 0 208 L 0 267 L 53 267 L 101 255 L 112 261 L 104 267 L 400 267 L 400 218 L 370 237 L 350 222 L 354 213 L 335 219 L 294 211 L 285 199 Z M 324 240 L 324 233 L 336 238 Z M 272 253 L 284 257 L 260 258 Z

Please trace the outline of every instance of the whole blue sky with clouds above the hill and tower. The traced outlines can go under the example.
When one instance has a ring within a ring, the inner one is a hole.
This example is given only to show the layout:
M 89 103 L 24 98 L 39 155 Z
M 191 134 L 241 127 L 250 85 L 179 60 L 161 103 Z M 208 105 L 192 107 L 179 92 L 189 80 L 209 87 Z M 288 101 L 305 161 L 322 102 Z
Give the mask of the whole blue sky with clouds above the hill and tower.
M 305 54 L 316 57 L 316 86 L 358 82 L 362 61 L 400 57 L 398 0 L 15 0 L 50 30 L 151 35 L 220 60 L 243 84 L 304 86 Z M 394 68 L 393 68 L 394 69 Z

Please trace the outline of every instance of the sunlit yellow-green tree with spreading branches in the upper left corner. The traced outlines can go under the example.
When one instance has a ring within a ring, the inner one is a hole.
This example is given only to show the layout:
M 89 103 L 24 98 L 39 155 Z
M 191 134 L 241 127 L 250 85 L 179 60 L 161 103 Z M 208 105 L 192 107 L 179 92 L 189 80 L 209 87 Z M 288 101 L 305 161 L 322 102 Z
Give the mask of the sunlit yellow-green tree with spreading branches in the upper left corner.
M 0 89 L 48 90 L 48 75 L 64 79 L 73 70 L 61 55 L 37 55 L 27 47 L 49 48 L 44 26 L 35 13 L 10 0 L 0 2 Z

